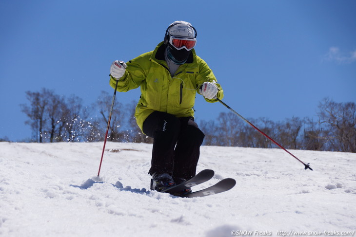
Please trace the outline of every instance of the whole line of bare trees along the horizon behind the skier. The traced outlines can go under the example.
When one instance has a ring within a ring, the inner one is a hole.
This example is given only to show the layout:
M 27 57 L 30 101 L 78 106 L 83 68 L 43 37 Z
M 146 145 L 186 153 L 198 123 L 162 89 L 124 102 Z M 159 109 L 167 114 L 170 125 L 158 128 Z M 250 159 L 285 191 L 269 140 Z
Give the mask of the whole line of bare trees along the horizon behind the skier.
M 21 111 L 31 126 L 32 141 L 102 141 L 106 131 L 112 96 L 102 91 L 94 104 L 94 117 L 89 117 L 82 100 L 75 95 L 68 99 L 42 88 L 26 91 L 29 104 L 21 104 Z M 125 106 L 115 102 L 109 127 L 109 141 L 152 143 L 136 124 L 136 102 Z M 336 103 L 330 99 L 320 102 L 318 120 L 292 117 L 283 122 L 267 118 L 249 119 L 264 133 L 286 148 L 356 152 L 356 105 L 354 102 Z M 302 134 L 302 128 L 304 133 Z M 270 148 L 275 145 L 245 124 L 235 114 L 222 112 L 217 120 L 200 121 L 205 134 L 204 145 L 247 146 Z M 6 140 L 6 138 L 2 139 Z

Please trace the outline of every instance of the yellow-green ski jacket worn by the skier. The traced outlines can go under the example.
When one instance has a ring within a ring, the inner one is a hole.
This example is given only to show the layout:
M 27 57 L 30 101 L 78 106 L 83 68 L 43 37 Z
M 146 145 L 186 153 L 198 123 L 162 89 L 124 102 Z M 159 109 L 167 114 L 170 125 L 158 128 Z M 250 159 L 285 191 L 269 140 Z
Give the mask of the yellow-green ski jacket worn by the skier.
M 138 87 L 141 96 L 136 106 L 135 117 L 138 127 L 153 111 L 173 114 L 177 117 L 194 116 L 196 93 L 203 82 L 217 82 L 213 71 L 206 62 L 198 57 L 195 50 L 186 63 L 179 66 L 174 76 L 168 70 L 164 60 L 165 45 L 159 43 L 154 51 L 139 55 L 127 62 L 125 74 L 119 79 L 117 91 L 126 92 Z M 223 91 L 219 84 L 218 98 Z M 110 77 L 110 86 L 115 89 L 116 79 Z M 216 100 L 208 100 L 216 102 Z

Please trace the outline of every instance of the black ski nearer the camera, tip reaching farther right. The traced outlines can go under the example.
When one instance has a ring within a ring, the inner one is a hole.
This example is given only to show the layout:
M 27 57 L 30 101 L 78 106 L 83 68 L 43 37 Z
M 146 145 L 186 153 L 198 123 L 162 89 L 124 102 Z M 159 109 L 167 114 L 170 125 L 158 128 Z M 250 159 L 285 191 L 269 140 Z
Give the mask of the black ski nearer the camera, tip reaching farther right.
M 185 195 L 181 195 L 179 197 L 182 198 L 196 198 L 196 197 L 205 197 L 210 196 L 218 193 L 222 193 L 232 189 L 236 184 L 236 181 L 232 178 L 227 178 L 219 181 L 218 183 L 214 184 L 213 186 L 207 187 L 205 189 L 199 190 L 197 192 L 188 193 Z

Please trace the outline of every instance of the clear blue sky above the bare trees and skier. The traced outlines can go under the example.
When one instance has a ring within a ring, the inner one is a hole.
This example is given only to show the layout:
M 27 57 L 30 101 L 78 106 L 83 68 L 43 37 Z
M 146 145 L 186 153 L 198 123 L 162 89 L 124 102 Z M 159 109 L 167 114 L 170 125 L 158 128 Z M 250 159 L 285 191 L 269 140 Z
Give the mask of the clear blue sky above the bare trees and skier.
M 354 0 L 0 0 L 0 138 L 31 137 L 25 91 L 76 94 L 88 106 L 112 94 L 112 61 L 153 50 L 175 20 L 197 29 L 197 54 L 246 118 L 313 117 L 324 97 L 356 102 L 355 12 Z M 201 96 L 195 109 L 197 121 L 229 111 Z

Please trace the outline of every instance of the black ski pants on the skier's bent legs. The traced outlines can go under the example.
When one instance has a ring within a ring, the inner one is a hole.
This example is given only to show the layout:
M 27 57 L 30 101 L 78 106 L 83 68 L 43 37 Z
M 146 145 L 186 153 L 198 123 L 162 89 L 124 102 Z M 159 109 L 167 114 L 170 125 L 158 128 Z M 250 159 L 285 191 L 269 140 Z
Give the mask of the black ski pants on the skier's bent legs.
M 154 111 L 142 130 L 154 139 L 149 174 L 168 173 L 186 180 L 195 176 L 204 133 L 193 117 Z

